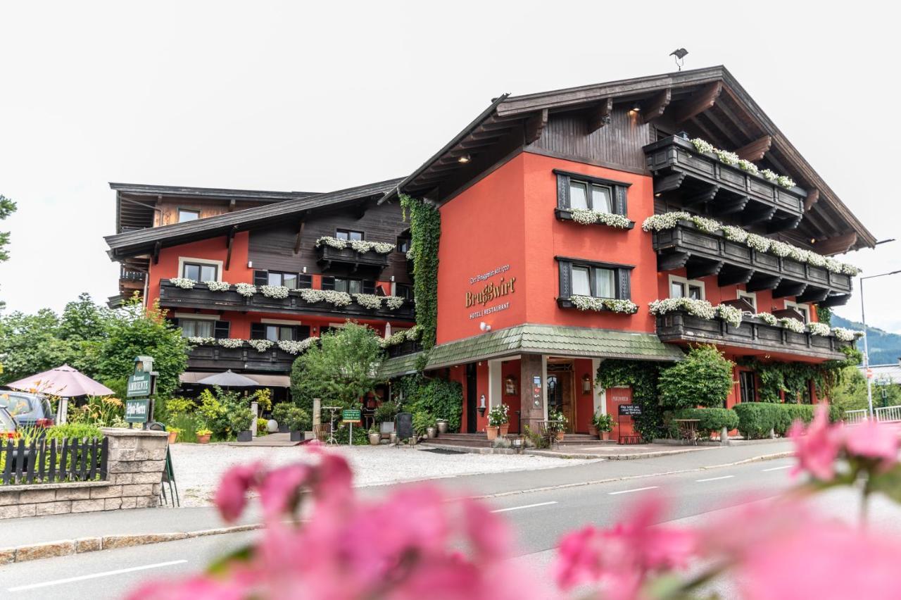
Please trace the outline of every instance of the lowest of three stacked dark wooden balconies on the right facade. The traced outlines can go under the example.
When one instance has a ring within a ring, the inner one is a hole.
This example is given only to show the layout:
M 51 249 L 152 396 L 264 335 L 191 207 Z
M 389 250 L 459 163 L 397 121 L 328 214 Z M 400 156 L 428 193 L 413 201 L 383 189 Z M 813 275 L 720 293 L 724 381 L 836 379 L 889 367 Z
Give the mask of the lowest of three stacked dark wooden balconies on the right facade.
M 747 315 L 741 325 L 733 327 L 720 319 L 701 319 L 681 311 L 659 315 L 657 335 L 667 342 L 712 343 L 738 350 L 757 350 L 750 353 L 781 352 L 826 360 L 845 359 L 842 347 L 853 344 L 839 341 L 833 335 L 789 332 Z

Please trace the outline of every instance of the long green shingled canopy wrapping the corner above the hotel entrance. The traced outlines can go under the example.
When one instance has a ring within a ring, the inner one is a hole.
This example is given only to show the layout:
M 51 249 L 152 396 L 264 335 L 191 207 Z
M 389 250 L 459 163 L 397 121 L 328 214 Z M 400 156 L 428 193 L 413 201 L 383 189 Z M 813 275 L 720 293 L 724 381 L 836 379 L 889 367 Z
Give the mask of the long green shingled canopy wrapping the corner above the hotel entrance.
M 685 356 L 678 346 L 663 343 L 654 333 L 523 324 L 435 346 L 426 368 L 450 367 L 520 353 L 670 361 Z

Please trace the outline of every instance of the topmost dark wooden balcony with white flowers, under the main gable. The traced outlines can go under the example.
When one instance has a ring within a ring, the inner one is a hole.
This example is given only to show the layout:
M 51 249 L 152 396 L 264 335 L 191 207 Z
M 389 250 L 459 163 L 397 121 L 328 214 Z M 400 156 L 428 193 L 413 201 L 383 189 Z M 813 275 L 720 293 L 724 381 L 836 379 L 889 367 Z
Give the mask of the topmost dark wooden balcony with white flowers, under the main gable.
M 804 190 L 700 154 L 678 136 L 655 141 L 644 153 L 654 176 L 654 195 L 668 202 L 695 209 L 707 205 L 715 217 L 731 214 L 743 225 L 764 223 L 768 232 L 794 229 L 804 216 Z

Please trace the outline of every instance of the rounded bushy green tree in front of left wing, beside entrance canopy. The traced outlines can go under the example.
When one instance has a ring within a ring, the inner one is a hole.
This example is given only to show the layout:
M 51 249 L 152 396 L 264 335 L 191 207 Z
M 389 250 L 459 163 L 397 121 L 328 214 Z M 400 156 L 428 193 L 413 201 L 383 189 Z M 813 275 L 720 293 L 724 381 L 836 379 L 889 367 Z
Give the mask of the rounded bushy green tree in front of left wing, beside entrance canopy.
M 383 357 L 376 332 L 349 321 L 324 333 L 318 346 L 297 357 L 291 368 L 291 394 L 307 411 L 313 398 L 336 406 L 354 405 L 380 382 Z

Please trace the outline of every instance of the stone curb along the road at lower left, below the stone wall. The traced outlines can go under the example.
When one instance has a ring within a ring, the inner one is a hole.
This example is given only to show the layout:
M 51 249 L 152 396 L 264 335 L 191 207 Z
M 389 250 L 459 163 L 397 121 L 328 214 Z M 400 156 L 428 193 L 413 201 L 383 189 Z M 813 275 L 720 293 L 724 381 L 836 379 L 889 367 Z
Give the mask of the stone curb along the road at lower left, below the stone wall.
M 9 565 L 14 562 L 27 562 L 29 560 L 52 559 L 59 556 L 84 554 L 85 552 L 96 552 L 98 550 L 131 548 L 132 546 L 158 544 L 163 541 L 187 540 L 188 538 L 200 538 L 207 535 L 250 532 L 255 529 L 261 529 L 262 527 L 262 523 L 253 523 L 248 525 L 233 525 L 232 527 L 203 529 L 196 532 L 131 533 L 126 535 L 77 538 L 75 540 L 43 541 L 37 544 L 16 546 L 14 548 L 0 548 L 0 565 Z

